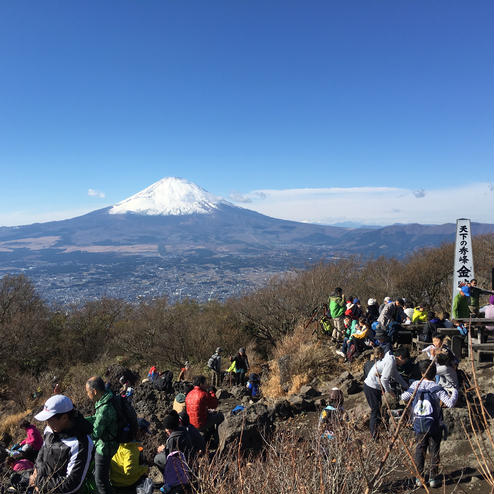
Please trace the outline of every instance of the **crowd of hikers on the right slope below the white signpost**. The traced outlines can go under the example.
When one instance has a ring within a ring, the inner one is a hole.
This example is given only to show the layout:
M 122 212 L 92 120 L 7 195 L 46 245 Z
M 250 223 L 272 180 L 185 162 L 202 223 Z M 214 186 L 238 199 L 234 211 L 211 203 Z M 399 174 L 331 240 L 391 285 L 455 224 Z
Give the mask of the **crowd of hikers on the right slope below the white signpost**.
M 357 297 L 345 297 L 341 288 L 336 288 L 329 297 L 329 304 L 319 321 L 326 333 L 331 335 L 337 347 L 336 354 L 347 361 L 372 349 L 373 359 L 364 364 L 364 395 L 370 407 L 369 429 L 377 439 L 383 423 L 383 413 L 393 417 L 403 413 L 396 408 L 399 400 L 409 404 L 408 413 L 416 436 L 415 464 L 420 474 L 416 483 L 421 486 L 424 479 L 426 452 L 429 449 L 431 468 L 429 485 L 438 487 L 439 451 L 441 440 L 447 436 L 442 408 L 454 407 L 460 396 L 460 381 L 464 374 L 458 369 L 461 355 L 455 355 L 446 343 L 440 328 L 456 328 L 458 335 L 465 337 L 467 329 L 457 319 L 494 317 L 494 292 L 477 287 L 477 281 L 460 287 L 453 302 L 453 319 L 447 312 L 436 314 L 427 311 L 424 305 L 413 306 L 401 298 L 386 297 L 378 306 L 369 299 L 364 309 Z M 489 304 L 480 308 L 479 296 L 489 295 Z M 422 350 L 423 359 L 411 358 L 408 348 L 398 346 L 398 331 L 409 324 L 422 323 L 418 339 L 430 343 Z M 491 328 L 494 329 L 494 328 Z M 334 389 L 331 400 L 323 410 L 320 425 L 330 421 L 332 437 L 336 424 L 343 414 L 343 394 Z M 384 400 L 384 403 L 383 403 Z

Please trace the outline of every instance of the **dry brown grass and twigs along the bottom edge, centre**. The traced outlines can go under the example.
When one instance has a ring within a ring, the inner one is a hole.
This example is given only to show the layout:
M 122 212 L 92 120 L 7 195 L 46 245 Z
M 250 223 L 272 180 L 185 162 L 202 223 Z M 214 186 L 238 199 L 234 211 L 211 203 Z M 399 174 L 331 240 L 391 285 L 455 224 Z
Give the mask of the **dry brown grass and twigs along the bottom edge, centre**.
M 367 487 L 366 475 L 385 450 L 384 443 L 369 441 L 366 434 L 342 424 L 333 440 L 322 438 L 317 430 L 306 431 L 303 438 L 278 433 L 266 443 L 262 455 L 243 457 L 233 447 L 211 462 L 201 459 L 193 492 L 362 494 Z M 388 484 L 391 479 L 409 476 L 406 461 L 401 451 L 393 451 L 370 493 L 410 492 Z

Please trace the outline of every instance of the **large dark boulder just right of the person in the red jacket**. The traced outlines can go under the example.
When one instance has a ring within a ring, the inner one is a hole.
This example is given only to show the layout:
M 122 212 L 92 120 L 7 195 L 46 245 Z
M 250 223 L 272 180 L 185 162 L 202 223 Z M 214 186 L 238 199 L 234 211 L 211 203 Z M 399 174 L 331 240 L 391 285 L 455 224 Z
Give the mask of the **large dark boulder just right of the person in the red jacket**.
M 243 411 L 225 417 L 218 427 L 219 450 L 229 446 L 237 447 L 240 442 L 242 449 L 260 450 L 264 445 L 264 438 L 272 430 L 272 414 L 263 403 L 254 403 Z

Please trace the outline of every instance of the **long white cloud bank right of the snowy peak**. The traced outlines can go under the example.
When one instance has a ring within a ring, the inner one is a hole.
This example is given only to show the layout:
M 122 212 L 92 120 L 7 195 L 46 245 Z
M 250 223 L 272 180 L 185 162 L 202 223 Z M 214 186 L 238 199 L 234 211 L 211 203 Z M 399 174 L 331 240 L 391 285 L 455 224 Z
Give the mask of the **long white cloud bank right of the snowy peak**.
M 309 223 L 442 224 L 457 218 L 493 223 L 492 184 L 473 183 L 444 189 L 331 187 L 255 190 L 230 200 L 268 216 Z

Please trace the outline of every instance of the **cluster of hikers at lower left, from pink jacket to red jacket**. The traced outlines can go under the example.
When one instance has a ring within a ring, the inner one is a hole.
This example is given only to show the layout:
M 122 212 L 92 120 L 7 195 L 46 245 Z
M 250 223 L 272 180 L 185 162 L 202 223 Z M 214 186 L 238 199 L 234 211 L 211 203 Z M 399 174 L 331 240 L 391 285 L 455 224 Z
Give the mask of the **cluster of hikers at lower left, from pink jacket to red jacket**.
M 20 427 L 27 437 L 8 450 L 6 459 L 12 471 L 11 489 L 53 494 L 151 494 L 153 482 L 148 478 L 141 445 L 150 433 L 150 423 L 137 417 L 128 383 L 123 381 L 119 392 L 113 393 L 101 377 L 88 379 L 86 394 L 95 410 L 89 417 L 83 417 L 68 396 L 51 396 L 34 416 L 45 424 L 43 436 L 23 419 Z M 189 492 L 192 469 L 224 419 L 215 411 L 217 406 L 214 387 L 200 375 L 193 378 L 181 411 L 170 407 L 166 412 L 162 427 L 168 438 L 154 457 L 163 474 L 164 494 Z

